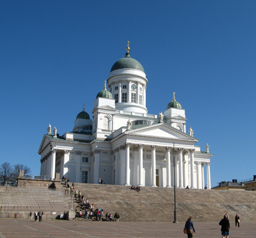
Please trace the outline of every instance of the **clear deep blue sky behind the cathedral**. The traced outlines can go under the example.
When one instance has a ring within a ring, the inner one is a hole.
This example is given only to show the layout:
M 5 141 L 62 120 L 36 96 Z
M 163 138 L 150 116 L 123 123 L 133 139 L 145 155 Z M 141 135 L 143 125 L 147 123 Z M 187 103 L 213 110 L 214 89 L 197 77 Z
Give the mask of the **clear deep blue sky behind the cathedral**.
M 176 100 L 211 181 L 256 174 L 256 1 L 0 1 L 0 164 L 40 174 L 47 126 L 63 135 L 92 117 L 111 66 L 131 57 L 147 74 L 147 108 Z

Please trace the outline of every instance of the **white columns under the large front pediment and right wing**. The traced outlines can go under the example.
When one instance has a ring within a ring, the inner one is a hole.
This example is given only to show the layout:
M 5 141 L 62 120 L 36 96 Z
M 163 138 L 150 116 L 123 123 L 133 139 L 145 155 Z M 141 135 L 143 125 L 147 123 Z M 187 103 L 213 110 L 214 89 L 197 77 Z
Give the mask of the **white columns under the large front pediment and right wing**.
M 143 186 L 145 181 L 143 181 L 143 144 L 138 144 L 138 186 Z M 118 170 L 118 151 L 120 151 L 120 174 L 115 173 L 115 181 L 118 181 L 120 178 L 120 184 L 125 184 L 127 186 L 131 185 L 131 173 L 130 173 L 130 147 L 131 143 L 125 143 L 125 146 L 120 147 L 114 151 L 115 154 L 115 168 Z M 151 147 L 151 174 L 150 174 L 150 186 L 156 186 L 156 145 L 150 145 Z M 185 188 L 186 182 L 189 182 L 190 188 L 204 188 L 204 165 L 207 164 L 207 188 L 211 189 L 211 174 L 210 174 L 210 162 L 207 161 L 203 163 L 202 161 L 195 161 L 195 149 L 184 149 L 176 148 L 173 151 L 173 147 L 166 147 L 166 187 L 172 188 L 172 178 L 174 172 L 174 163 L 175 163 L 175 181 L 177 187 Z M 190 160 L 185 159 L 185 155 L 189 153 Z M 124 159 L 125 155 L 125 161 Z M 171 160 L 172 156 L 172 160 Z M 123 160 L 123 161 L 122 161 Z M 185 171 L 185 163 L 190 164 L 190 174 Z M 195 173 L 196 167 L 196 173 Z M 134 171 L 136 172 L 136 171 Z M 125 176 L 121 176 L 124 174 Z M 197 177 L 195 177 L 195 174 Z M 124 179 L 122 179 L 124 177 Z M 187 181 L 186 177 L 189 177 Z M 123 182 L 124 181 L 124 182 Z M 197 182 L 197 184 L 196 184 Z M 188 184 L 187 184 L 188 185 Z

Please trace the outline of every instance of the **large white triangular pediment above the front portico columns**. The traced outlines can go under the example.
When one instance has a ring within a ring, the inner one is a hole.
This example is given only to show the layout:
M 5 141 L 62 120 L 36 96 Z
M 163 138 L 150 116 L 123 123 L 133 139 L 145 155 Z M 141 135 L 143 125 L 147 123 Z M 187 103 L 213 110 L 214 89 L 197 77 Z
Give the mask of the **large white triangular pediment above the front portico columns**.
M 145 126 L 144 128 L 126 131 L 125 134 L 137 135 L 141 137 L 168 138 L 173 140 L 189 140 L 197 142 L 198 139 L 173 128 L 166 123 L 159 123 L 153 126 Z

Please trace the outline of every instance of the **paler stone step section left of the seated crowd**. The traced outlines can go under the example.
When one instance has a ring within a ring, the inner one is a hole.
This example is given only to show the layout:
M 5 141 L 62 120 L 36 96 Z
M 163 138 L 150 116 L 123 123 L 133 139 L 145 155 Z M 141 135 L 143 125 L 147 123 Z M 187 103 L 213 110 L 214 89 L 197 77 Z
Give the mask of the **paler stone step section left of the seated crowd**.
M 0 218 L 29 218 L 30 212 L 43 211 L 43 219 L 56 219 L 70 207 L 70 195 L 63 189 L 0 187 Z

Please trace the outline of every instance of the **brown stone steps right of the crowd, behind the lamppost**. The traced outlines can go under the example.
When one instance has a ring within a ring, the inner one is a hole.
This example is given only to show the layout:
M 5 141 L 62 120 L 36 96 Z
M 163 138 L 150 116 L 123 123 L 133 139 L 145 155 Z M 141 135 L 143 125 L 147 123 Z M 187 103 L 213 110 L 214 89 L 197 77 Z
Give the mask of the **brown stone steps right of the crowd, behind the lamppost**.
M 95 207 L 120 214 L 121 221 L 173 221 L 174 189 L 142 187 L 140 192 L 128 186 L 75 184 L 75 188 Z M 227 212 L 230 218 L 255 221 L 255 191 L 176 189 L 177 220 L 220 221 Z

